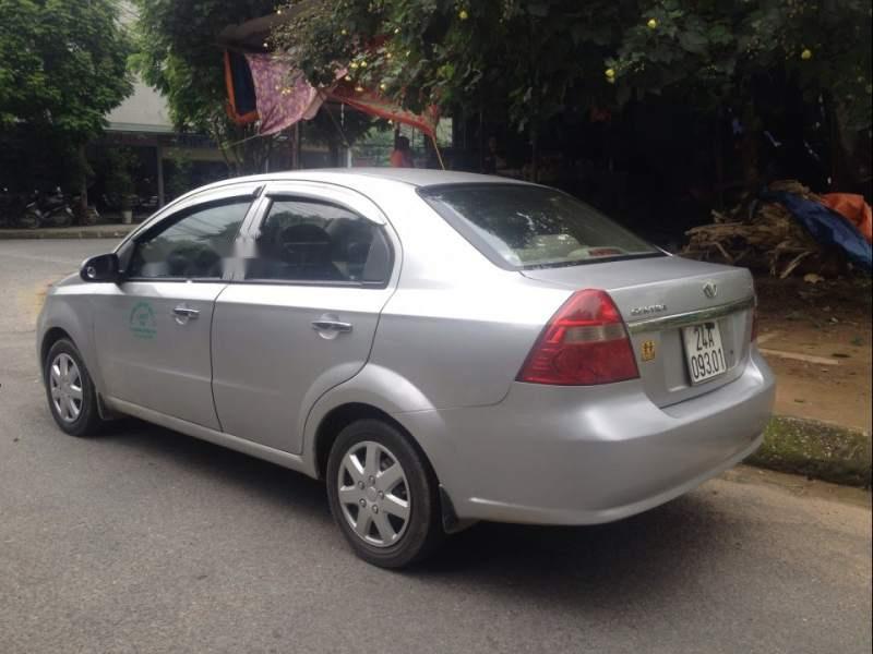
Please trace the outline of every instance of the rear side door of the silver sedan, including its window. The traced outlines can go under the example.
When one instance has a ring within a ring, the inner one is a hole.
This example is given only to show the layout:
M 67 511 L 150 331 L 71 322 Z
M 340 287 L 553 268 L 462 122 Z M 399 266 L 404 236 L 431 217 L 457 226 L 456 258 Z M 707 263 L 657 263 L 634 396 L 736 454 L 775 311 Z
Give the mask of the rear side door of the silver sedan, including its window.
M 260 203 L 244 270 L 216 301 L 213 395 L 225 432 L 299 453 L 309 409 L 367 362 L 399 247 L 351 191 L 275 183 Z

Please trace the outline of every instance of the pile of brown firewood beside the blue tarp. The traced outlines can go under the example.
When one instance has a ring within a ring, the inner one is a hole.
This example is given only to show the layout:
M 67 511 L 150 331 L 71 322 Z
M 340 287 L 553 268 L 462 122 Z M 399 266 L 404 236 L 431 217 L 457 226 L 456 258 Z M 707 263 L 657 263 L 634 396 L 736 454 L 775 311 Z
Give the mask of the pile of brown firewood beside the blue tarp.
M 821 198 L 796 180 L 773 182 L 770 191 Z M 682 256 L 745 266 L 785 279 L 794 271 L 822 271 L 832 262 L 781 204 L 748 197 L 730 211 L 713 211 L 713 223 L 685 232 Z

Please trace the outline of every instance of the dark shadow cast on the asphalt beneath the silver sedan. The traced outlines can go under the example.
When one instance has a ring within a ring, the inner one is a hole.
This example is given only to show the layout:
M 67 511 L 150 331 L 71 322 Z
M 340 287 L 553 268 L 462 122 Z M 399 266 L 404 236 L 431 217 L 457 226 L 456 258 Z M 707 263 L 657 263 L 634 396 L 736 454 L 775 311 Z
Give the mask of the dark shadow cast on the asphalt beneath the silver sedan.
M 165 461 L 237 486 L 279 511 L 304 513 L 322 525 L 331 520 L 320 482 L 147 423 L 122 424 L 101 439 L 135 448 L 154 464 Z M 693 583 L 698 567 L 713 572 L 726 565 L 726 558 L 741 556 L 748 525 L 719 513 L 717 498 L 710 499 L 715 493 L 702 489 L 603 525 L 480 523 L 450 537 L 426 564 L 399 574 L 429 583 L 469 584 L 483 592 L 524 593 L 542 602 L 610 604 L 615 592 L 623 602 L 641 595 L 665 597 Z

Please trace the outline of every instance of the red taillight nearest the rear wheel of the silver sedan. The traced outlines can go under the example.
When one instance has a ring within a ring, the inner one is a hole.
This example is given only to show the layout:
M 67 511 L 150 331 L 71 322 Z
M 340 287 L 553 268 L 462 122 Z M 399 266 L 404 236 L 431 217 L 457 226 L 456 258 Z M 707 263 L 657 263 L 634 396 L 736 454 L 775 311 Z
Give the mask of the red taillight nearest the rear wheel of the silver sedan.
M 621 314 L 606 291 L 577 291 L 542 330 L 518 382 L 587 386 L 639 376 Z

